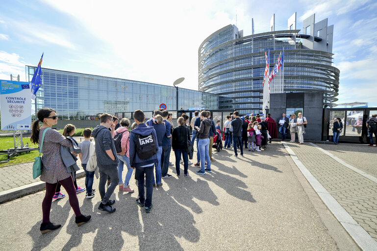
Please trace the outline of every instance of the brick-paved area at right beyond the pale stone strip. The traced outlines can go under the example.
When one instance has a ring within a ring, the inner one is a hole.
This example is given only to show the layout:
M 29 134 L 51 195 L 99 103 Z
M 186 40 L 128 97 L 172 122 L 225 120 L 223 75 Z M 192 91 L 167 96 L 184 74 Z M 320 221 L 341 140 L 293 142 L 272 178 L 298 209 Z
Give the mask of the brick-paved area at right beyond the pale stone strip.
M 361 176 L 314 146 L 287 143 L 302 164 L 326 188 L 352 218 L 377 241 L 377 183 Z M 318 145 L 354 167 L 377 174 L 377 148 Z M 352 151 L 353 150 L 353 151 Z

